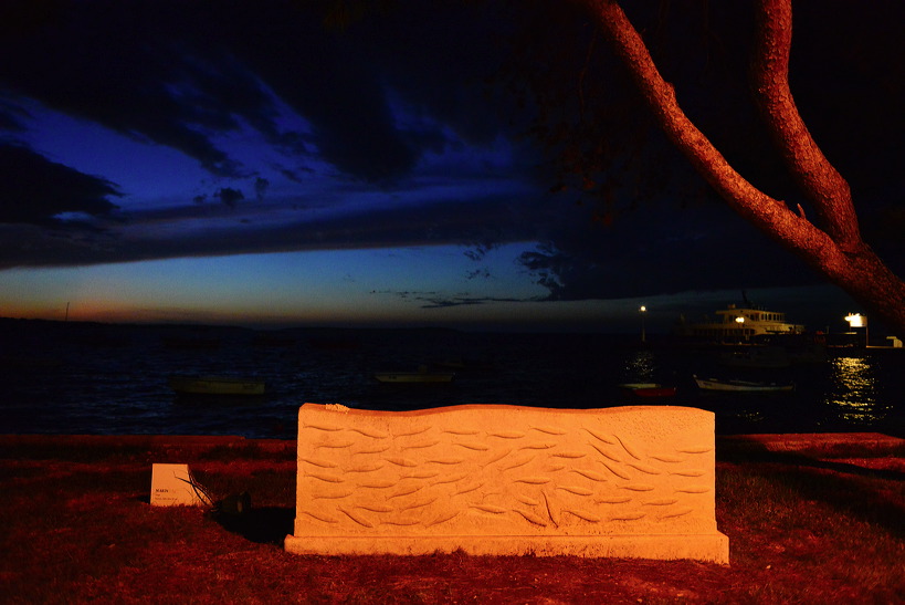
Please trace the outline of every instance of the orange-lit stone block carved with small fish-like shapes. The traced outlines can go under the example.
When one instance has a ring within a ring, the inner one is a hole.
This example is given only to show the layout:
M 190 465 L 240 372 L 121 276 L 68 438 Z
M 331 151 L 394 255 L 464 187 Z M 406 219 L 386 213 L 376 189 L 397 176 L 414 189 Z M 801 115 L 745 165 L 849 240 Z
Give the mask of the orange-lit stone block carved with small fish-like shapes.
M 728 563 L 714 466 L 714 415 L 694 408 L 305 404 L 285 547 Z

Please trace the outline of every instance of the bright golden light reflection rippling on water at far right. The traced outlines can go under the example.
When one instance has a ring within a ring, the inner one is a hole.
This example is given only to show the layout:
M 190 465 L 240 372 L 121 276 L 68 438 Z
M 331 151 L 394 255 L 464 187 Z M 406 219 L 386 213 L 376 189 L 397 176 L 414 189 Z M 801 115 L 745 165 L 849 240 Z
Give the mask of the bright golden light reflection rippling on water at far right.
M 832 392 L 827 405 L 840 417 L 857 425 L 869 425 L 885 416 L 877 406 L 877 377 L 871 357 L 836 357 L 832 361 Z

